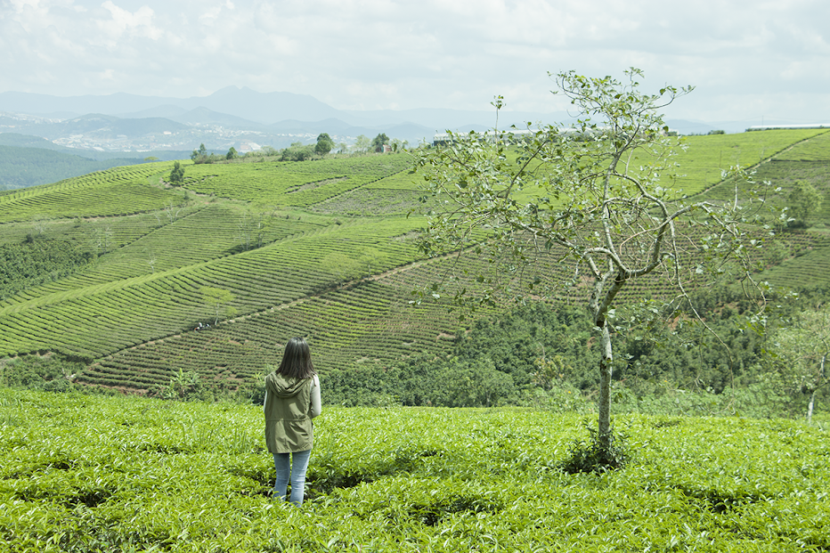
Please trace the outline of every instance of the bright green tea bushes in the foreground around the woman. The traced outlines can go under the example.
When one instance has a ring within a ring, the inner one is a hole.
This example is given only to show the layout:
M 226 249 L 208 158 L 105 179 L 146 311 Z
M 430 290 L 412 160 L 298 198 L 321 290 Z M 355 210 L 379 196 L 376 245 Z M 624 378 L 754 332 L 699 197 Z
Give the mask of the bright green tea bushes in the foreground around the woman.
M 623 416 L 631 464 L 567 474 L 587 438 L 579 415 L 327 408 L 295 508 L 270 497 L 262 419 L 256 406 L 0 389 L 2 549 L 830 549 L 817 426 Z

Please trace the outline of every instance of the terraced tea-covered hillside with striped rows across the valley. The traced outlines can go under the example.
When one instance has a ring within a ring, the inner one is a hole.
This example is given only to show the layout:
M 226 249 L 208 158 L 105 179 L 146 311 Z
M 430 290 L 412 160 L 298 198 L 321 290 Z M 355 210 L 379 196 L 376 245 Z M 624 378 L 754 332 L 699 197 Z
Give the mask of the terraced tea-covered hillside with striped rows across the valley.
M 734 163 L 760 164 L 758 176 L 785 193 L 799 180 L 828 192 L 830 134 L 685 142 L 676 185 L 686 193 L 728 196 L 720 168 Z M 250 381 L 295 335 L 310 338 L 323 372 L 448 352 L 456 316 L 410 305 L 412 289 L 448 263 L 416 248 L 424 221 L 409 216 L 419 197 L 410 166 L 405 153 L 188 161 L 183 186 L 172 188 L 172 163 L 157 162 L 0 193 L 7 259 L 37 244 L 85 254 L 50 257 L 31 269 L 37 275 L 15 272 L 0 288 L 0 358 L 62 354 L 85 364 L 79 382 L 143 392 L 178 370 L 229 386 Z M 830 283 L 827 209 L 830 201 L 810 230 L 777 236 L 763 254 L 769 281 Z M 624 297 L 659 295 L 660 286 L 642 281 Z M 217 302 L 210 289 L 229 296 Z

